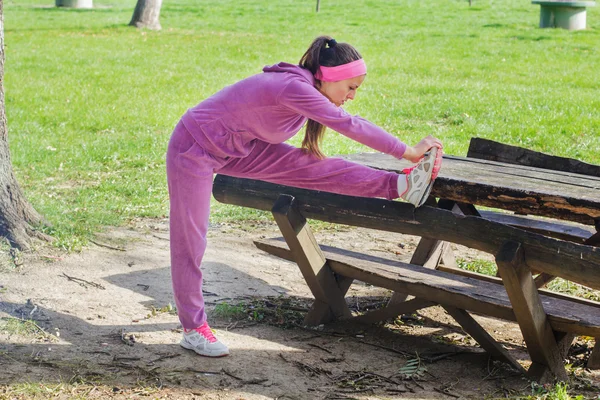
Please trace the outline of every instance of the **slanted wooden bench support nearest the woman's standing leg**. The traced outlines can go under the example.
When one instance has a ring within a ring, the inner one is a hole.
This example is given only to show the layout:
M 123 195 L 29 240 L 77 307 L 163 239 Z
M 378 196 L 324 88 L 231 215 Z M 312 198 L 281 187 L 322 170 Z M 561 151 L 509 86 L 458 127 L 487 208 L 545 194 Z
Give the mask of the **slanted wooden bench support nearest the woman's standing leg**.
M 272 212 L 315 297 L 313 307 L 304 322 L 307 325 L 319 325 L 333 319 L 350 317 L 350 309 L 344 296 L 352 284 L 352 279 L 338 280 L 331 271 L 310 227 L 306 224 L 306 218 L 298 211 L 294 197 L 280 195 Z

